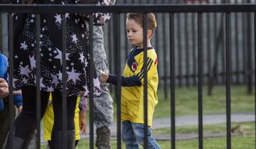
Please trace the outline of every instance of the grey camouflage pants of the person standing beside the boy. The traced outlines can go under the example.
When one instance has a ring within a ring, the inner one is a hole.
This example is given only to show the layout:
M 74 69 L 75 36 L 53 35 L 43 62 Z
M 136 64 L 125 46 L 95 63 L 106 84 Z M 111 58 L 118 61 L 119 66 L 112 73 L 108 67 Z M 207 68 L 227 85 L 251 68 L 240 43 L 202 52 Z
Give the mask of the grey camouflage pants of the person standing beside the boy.
M 109 72 L 107 65 L 107 56 L 104 48 L 103 31 L 101 26 L 93 26 L 93 61 L 96 70 Z M 100 77 L 100 72 L 97 71 L 97 76 Z M 96 128 L 104 126 L 110 127 L 113 121 L 113 100 L 110 92 L 107 89 L 109 84 L 102 84 L 102 96 L 94 100 L 94 123 Z

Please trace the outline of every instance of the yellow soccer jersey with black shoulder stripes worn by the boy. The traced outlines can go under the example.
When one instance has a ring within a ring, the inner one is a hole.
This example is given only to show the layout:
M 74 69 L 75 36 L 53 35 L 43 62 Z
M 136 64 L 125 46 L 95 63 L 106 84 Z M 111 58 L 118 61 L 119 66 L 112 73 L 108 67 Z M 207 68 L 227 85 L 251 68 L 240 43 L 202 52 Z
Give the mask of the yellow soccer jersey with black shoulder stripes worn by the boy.
M 131 50 L 124 67 L 124 77 L 137 76 L 141 86 L 122 87 L 121 119 L 133 123 L 144 123 L 144 52 L 136 47 Z M 148 92 L 148 125 L 152 126 L 154 107 L 158 103 L 157 55 L 153 48 L 147 50 L 147 92 Z

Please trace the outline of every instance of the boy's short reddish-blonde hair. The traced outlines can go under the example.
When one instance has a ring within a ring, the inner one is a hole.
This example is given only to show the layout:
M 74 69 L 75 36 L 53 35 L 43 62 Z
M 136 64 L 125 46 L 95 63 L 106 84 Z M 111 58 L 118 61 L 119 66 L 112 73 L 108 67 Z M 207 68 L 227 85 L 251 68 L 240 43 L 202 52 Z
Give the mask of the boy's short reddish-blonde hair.
M 127 13 L 127 19 L 134 19 L 143 28 L 143 13 Z M 156 29 L 156 18 L 153 13 L 146 13 L 146 28 L 154 32 Z

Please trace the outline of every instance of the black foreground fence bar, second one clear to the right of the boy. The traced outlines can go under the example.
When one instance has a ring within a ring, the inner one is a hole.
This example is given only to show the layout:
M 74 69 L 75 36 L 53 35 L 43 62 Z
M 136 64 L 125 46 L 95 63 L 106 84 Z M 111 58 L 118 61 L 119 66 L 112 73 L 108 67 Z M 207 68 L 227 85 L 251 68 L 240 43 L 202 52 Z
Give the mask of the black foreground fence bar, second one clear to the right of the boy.
M 203 32 L 202 13 L 198 13 L 198 145 L 203 148 Z

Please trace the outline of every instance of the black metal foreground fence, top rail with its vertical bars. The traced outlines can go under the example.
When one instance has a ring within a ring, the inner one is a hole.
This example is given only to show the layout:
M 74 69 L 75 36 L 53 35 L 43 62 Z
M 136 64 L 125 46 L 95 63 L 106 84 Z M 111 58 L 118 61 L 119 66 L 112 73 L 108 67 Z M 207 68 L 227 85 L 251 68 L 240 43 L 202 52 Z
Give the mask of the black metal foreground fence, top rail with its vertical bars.
M 11 13 L 16 12 L 16 13 L 36 13 L 36 28 L 37 28 L 37 34 L 36 34 L 36 43 L 40 42 L 40 32 L 38 31 L 38 28 L 40 28 L 40 14 L 38 13 L 62 13 L 62 18 L 63 18 L 63 53 L 62 53 L 62 58 L 63 58 L 63 72 L 65 72 L 65 68 L 66 68 L 66 62 L 64 61 L 66 58 L 66 53 L 65 53 L 65 49 L 66 49 L 66 18 L 64 13 L 66 12 L 70 12 L 70 13 L 95 13 L 95 12 L 110 12 L 110 13 L 114 13 L 114 16 L 112 18 L 112 20 L 114 20 L 114 50 L 116 53 L 114 53 L 114 55 L 116 55 L 117 58 L 117 64 L 116 64 L 116 70 L 117 70 L 117 94 L 116 98 L 117 98 L 117 148 L 121 148 L 121 85 L 122 85 L 122 81 L 121 81 L 121 52 L 119 51 L 120 48 L 120 43 L 119 43 L 119 36 L 120 36 L 120 15 L 121 13 L 127 13 L 127 12 L 142 12 L 144 13 L 144 21 L 143 21 L 143 26 L 145 28 L 146 26 L 146 13 L 148 12 L 155 12 L 155 13 L 169 13 L 169 42 L 171 43 L 169 46 L 169 52 L 170 52 L 170 65 L 169 68 L 171 70 L 171 75 L 170 75 L 170 79 L 171 79 L 171 148 L 174 149 L 176 148 L 176 133 L 175 133 L 175 128 L 176 128 L 176 123 L 175 123 L 175 65 L 176 65 L 176 61 L 175 59 L 175 52 L 174 52 L 174 38 L 176 38 L 176 36 L 174 35 L 174 27 L 176 26 L 175 24 L 175 19 L 174 19 L 174 15 L 176 13 L 197 13 L 197 22 L 194 22 L 196 24 L 193 25 L 193 27 L 197 27 L 197 31 L 196 31 L 196 35 L 197 37 L 195 37 L 195 40 L 197 40 L 197 50 L 195 48 L 195 53 L 193 53 L 193 58 L 196 60 L 196 53 L 197 53 L 197 58 L 198 61 L 193 64 L 196 65 L 198 67 L 198 74 L 197 76 L 195 75 L 194 77 L 197 77 L 198 80 L 194 79 L 194 83 L 196 84 L 196 81 L 198 82 L 198 148 L 202 149 L 203 148 L 203 71 L 204 71 L 204 67 L 203 67 L 203 13 L 225 13 L 225 16 L 223 16 L 223 18 L 225 18 L 225 20 L 223 20 L 223 23 L 225 23 L 225 28 L 223 28 L 223 30 L 225 29 L 225 50 L 223 50 L 225 52 L 225 57 L 223 60 L 225 60 L 225 73 L 223 74 L 223 78 L 224 78 L 224 82 L 225 82 L 225 87 L 226 87 L 226 121 L 227 121 L 227 148 L 230 149 L 231 148 L 231 99 L 230 99 L 230 76 L 231 76 L 231 57 L 230 57 L 230 49 L 231 49 L 231 43 L 230 43 L 230 13 L 235 13 L 235 12 L 245 12 L 245 13 L 254 13 L 255 15 L 255 8 L 256 8 L 256 4 L 191 4 L 191 5 L 186 5 L 186 4 L 157 4 L 157 5 L 153 5 L 153 4 L 147 4 L 147 5 L 116 5 L 116 6 L 92 6 L 92 5 L 69 5 L 69 6 L 63 6 L 63 5 L 31 5 L 31 6 L 23 6 L 23 5 L 0 5 L 0 12 L 1 13 L 9 13 L 9 56 L 11 57 L 11 62 L 10 62 L 10 81 L 12 82 L 12 71 L 14 70 L 13 67 L 13 22 L 11 19 Z M 254 30 L 255 30 L 255 16 L 254 16 Z M 224 22 L 225 21 L 225 22 Z M 92 28 L 92 15 L 90 14 L 90 20 L 89 20 L 89 24 L 90 24 L 90 28 L 89 28 L 89 32 L 90 32 L 90 49 L 89 53 L 90 53 L 90 68 L 92 68 L 92 63 L 93 63 L 93 58 L 92 58 L 92 33 L 93 33 L 93 28 Z M 208 21 L 208 24 L 210 24 L 210 22 Z M 110 26 L 111 27 L 111 26 Z M 249 32 L 249 31 L 248 31 Z M 256 31 L 255 31 L 256 33 Z M 254 33 L 254 34 L 255 34 Z M 144 38 L 146 37 L 146 30 L 144 29 Z M 255 36 L 255 35 L 254 35 Z M 182 37 L 178 37 L 178 38 L 182 38 Z M 208 36 L 208 38 L 210 38 L 210 36 Z M 209 40 L 209 39 L 208 39 Z M 254 42 L 255 42 L 255 37 L 254 37 Z M 112 43 L 112 42 L 111 42 Z M 188 44 L 188 43 L 186 43 Z M 144 41 L 144 45 L 146 45 L 146 41 Z M 109 45 L 110 48 L 112 48 L 112 45 Z M 125 45 L 125 47 L 127 48 L 127 45 Z M 36 46 L 36 57 L 39 57 L 40 55 L 40 44 L 37 44 Z M 166 49 L 164 49 L 166 50 Z M 255 45 L 255 49 L 256 50 L 256 45 Z M 144 46 L 144 67 L 145 67 L 145 71 L 144 71 L 144 122 L 147 123 L 148 119 L 147 119 L 147 75 L 146 75 L 146 68 L 147 68 L 147 62 L 146 62 L 146 46 Z M 167 55 L 167 54 L 166 54 Z M 179 56 L 181 56 L 182 54 L 179 53 Z M 188 52 L 186 53 L 186 55 L 188 56 Z M 208 52 L 208 55 L 209 52 Z M 184 55 L 182 55 L 184 57 Z M 216 56 L 216 55 L 215 55 Z M 250 55 L 247 55 L 248 57 L 250 57 Z M 208 56 L 209 58 L 210 56 Z M 40 60 L 40 58 L 38 58 L 38 60 Z M 249 59 L 250 60 L 250 59 Z M 164 60 L 164 62 L 166 62 L 166 60 Z M 250 61 L 252 62 L 252 61 Z M 254 61 L 255 62 L 255 61 Z M 37 66 L 37 70 L 36 70 L 36 74 L 37 76 L 39 76 L 40 72 L 40 65 L 39 62 L 36 63 Z M 196 67 L 194 66 L 194 67 Z M 210 65 L 208 65 L 208 67 L 210 67 Z M 252 69 L 252 65 L 250 64 L 248 67 L 250 67 L 250 70 Z M 188 70 L 189 68 L 187 68 Z M 194 69 L 196 70 L 196 69 Z M 195 73 L 196 74 L 196 73 Z M 90 93 L 93 92 L 93 79 L 92 79 L 92 71 L 90 71 Z M 167 76 L 164 76 L 164 78 L 166 78 Z M 65 75 L 63 75 L 63 80 L 66 80 Z M 250 80 L 252 81 L 252 78 L 250 78 Z M 37 77 L 36 78 L 36 82 L 40 82 L 40 78 Z M 167 86 L 167 82 L 164 86 Z M 66 91 L 65 91 L 65 82 L 63 81 L 63 143 L 64 143 L 64 148 L 67 148 L 66 146 L 66 133 L 67 130 L 65 129 L 67 127 L 67 123 L 66 123 L 66 107 L 68 105 L 66 105 Z M 13 88 L 10 86 L 10 91 L 13 91 Z M 41 96 L 40 96 L 40 89 L 39 87 L 36 88 L 36 94 L 37 94 L 37 109 L 40 109 L 40 101 L 41 101 Z M 10 96 L 12 96 L 12 94 L 10 94 Z M 11 98 L 12 99 L 12 98 Z M 12 101 L 11 101 L 12 102 Z M 93 94 L 90 94 L 90 148 L 94 148 L 94 134 L 93 134 Z M 255 111 L 256 111 L 256 96 L 255 96 Z M 13 114 L 11 113 L 11 116 Z M 38 110 L 37 112 L 37 129 L 40 129 L 40 117 L 41 116 L 41 111 Z M 256 119 L 256 114 L 255 114 L 255 119 Z M 13 121 L 10 118 L 10 123 L 11 123 L 11 129 L 10 129 L 10 133 L 12 134 L 14 131 L 13 128 Z M 148 126 L 145 124 L 144 125 L 144 143 L 146 143 L 146 145 L 144 146 L 144 148 L 148 148 L 147 144 L 148 144 L 148 139 L 147 139 L 147 132 L 148 132 Z M 256 131 L 255 131 L 256 133 Z M 37 148 L 40 148 L 40 131 L 37 133 Z M 10 136 L 11 140 L 10 143 L 12 144 L 12 137 Z M 12 146 L 10 146 L 12 148 Z

